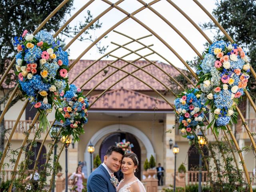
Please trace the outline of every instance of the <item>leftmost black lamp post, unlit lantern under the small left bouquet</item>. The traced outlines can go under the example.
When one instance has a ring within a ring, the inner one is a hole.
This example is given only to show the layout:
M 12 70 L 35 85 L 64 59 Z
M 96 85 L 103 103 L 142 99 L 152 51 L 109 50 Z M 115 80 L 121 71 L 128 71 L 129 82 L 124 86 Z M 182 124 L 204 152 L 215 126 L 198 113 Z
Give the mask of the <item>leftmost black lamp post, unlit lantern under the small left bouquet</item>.
M 53 124 L 53 126 L 50 129 L 50 137 L 52 138 L 52 141 L 54 141 L 55 139 L 57 140 L 57 142 L 60 141 L 60 134 L 59 136 L 57 136 L 58 132 L 60 131 L 60 128 L 62 127 L 62 124 L 58 121 L 55 121 L 55 123 Z M 56 162 L 56 154 L 57 154 L 57 144 L 54 145 L 54 157 L 53 157 L 53 170 L 55 167 L 55 162 Z M 53 182 L 52 182 L 52 192 L 54 192 L 55 190 L 55 173 L 53 172 L 54 176 L 53 176 Z

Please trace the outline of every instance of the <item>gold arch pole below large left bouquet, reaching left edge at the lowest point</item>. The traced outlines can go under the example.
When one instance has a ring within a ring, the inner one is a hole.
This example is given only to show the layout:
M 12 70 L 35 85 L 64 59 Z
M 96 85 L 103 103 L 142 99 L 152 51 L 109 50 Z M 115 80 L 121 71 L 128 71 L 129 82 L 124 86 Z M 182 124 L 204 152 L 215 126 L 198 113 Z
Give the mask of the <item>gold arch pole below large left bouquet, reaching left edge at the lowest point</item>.
M 12 130 L 10 132 L 10 136 L 9 136 L 9 138 L 8 138 L 6 144 L 5 144 L 4 151 L 2 153 L 2 158 L 1 158 L 1 161 L 0 161 L 0 171 L 2 170 L 2 166 L 3 166 L 3 163 L 4 163 L 4 158 L 6 156 L 7 150 L 10 147 L 10 142 L 12 140 L 12 136 L 13 136 L 15 130 L 16 130 L 16 127 L 17 127 L 18 123 L 20 122 L 20 118 L 21 118 L 24 110 L 26 109 L 27 104 L 28 104 L 28 100 L 26 100 L 26 102 L 24 103 L 22 109 L 20 110 L 20 114 L 18 115 L 18 117 L 17 117 L 17 119 L 16 119 L 16 121 L 14 123 L 14 126 L 12 127 Z

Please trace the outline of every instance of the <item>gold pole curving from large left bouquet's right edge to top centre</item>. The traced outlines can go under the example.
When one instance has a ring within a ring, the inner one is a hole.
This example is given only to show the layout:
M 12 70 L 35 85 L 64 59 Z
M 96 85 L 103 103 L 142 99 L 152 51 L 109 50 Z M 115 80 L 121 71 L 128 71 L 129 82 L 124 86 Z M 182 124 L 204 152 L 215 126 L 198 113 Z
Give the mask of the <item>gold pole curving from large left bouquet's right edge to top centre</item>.
M 152 2 L 148 3 L 149 5 L 155 4 L 156 2 L 158 2 L 160 0 L 153 0 Z M 116 6 L 116 4 L 112 4 L 110 2 L 110 6 Z M 139 9 L 137 9 L 136 11 L 132 12 L 132 14 L 137 14 L 139 12 L 141 12 L 142 10 L 144 10 L 146 7 L 143 6 Z M 94 42 L 92 42 L 92 44 L 90 44 L 88 46 L 88 48 L 86 48 L 79 56 L 78 58 L 76 58 L 76 60 L 74 60 L 74 62 L 70 65 L 70 70 L 74 67 L 74 65 L 82 58 L 82 56 L 84 56 L 84 54 L 86 54 L 86 52 L 88 52 L 88 50 L 90 50 L 97 42 L 99 42 L 102 38 L 104 38 L 104 36 L 106 36 L 110 31 L 112 31 L 113 29 L 115 29 L 117 26 L 119 26 L 120 24 L 122 24 L 124 21 L 128 20 L 128 18 L 130 18 L 129 16 L 126 16 L 125 18 L 123 18 L 122 20 L 120 20 L 119 22 L 117 22 L 116 24 L 114 24 L 112 27 L 110 27 L 106 32 L 104 32 L 100 37 L 98 37 Z M 67 45 L 68 46 L 68 45 Z

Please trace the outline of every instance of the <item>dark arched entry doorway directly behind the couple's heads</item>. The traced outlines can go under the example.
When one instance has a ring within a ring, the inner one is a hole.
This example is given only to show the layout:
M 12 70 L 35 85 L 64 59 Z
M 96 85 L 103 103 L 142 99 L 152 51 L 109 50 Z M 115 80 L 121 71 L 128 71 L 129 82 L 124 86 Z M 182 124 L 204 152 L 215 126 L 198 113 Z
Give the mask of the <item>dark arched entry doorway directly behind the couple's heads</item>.
M 110 146 L 116 145 L 117 142 L 121 142 L 124 139 L 126 140 L 126 142 L 129 141 L 134 145 L 134 147 L 132 148 L 132 151 L 138 156 L 139 162 L 141 162 L 140 144 L 133 134 L 130 134 L 127 132 L 114 133 L 107 136 L 103 140 L 102 144 L 100 145 L 100 151 L 99 151 L 100 159 L 102 160 L 102 162 L 104 160 L 104 155 L 106 154 L 106 150 L 108 150 Z M 135 173 L 136 177 L 138 177 L 139 179 L 140 179 L 140 170 L 141 170 L 140 167 L 141 166 L 139 164 L 138 172 Z

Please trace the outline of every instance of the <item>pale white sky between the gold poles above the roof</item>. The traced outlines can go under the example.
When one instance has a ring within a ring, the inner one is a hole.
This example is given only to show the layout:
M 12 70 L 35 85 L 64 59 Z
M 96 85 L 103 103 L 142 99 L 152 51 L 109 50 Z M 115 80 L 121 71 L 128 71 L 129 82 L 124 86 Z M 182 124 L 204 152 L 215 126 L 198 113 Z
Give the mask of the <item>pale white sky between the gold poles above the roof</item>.
M 117 0 L 110 0 L 110 2 L 114 3 Z M 74 0 L 74 10 L 72 10 L 71 14 L 74 14 L 78 9 L 80 9 L 84 4 L 88 2 L 82 0 Z M 144 2 L 149 3 L 151 0 L 144 0 Z M 210 21 L 210 18 L 194 3 L 192 0 L 173 0 L 173 2 L 180 7 L 196 24 L 202 24 L 204 22 Z M 199 0 L 199 2 L 211 13 L 213 8 L 215 7 L 215 0 Z M 120 3 L 122 9 L 126 10 L 128 13 L 134 12 L 138 8 L 143 5 L 137 0 L 124 0 L 124 2 Z M 84 16 L 87 15 L 87 10 L 90 10 L 93 17 L 98 16 L 101 12 L 106 10 L 109 5 L 102 0 L 95 0 L 92 4 L 90 4 L 86 10 L 81 12 L 71 23 L 70 26 L 76 26 L 79 22 L 84 20 Z M 160 0 L 156 4 L 152 5 L 156 11 L 158 11 L 164 18 L 166 18 L 171 24 L 173 24 L 180 32 L 195 46 L 195 48 L 202 53 L 204 51 L 203 44 L 206 42 L 205 38 L 178 12 L 171 4 L 169 4 L 166 0 Z M 164 41 L 166 41 L 185 61 L 192 60 L 196 53 L 184 42 L 184 40 L 172 29 L 168 26 L 161 18 L 156 16 L 151 10 L 148 8 L 142 10 L 138 14 L 134 15 L 138 20 L 146 24 L 146 26 L 150 27 L 154 32 L 156 32 Z M 66 16 L 68 19 L 70 16 Z M 125 14 L 113 8 L 110 12 L 105 14 L 102 18 L 100 18 L 100 22 L 102 23 L 102 28 L 97 29 L 96 31 L 90 31 L 92 38 L 96 39 L 100 37 L 106 30 L 116 24 L 118 21 L 122 20 L 126 17 Z M 129 18 L 124 23 L 120 24 L 115 28 L 116 31 L 126 34 L 132 38 L 140 38 L 142 36 L 146 36 L 151 34 L 148 30 L 146 30 L 143 26 L 138 24 L 136 21 Z M 213 39 L 214 34 L 210 30 L 204 31 L 210 39 Z M 68 43 L 71 39 L 66 38 L 65 42 Z M 120 34 L 117 34 L 111 31 L 107 38 L 104 38 L 100 41 L 100 46 L 108 46 L 106 52 L 113 50 L 117 46 L 112 44 L 114 42 L 116 44 L 125 44 L 129 42 L 130 39 L 126 38 Z M 172 64 L 179 68 L 184 68 L 182 62 L 167 48 L 158 38 L 155 36 L 150 36 L 148 38 L 144 38 L 140 40 L 142 43 L 146 45 L 154 44 L 151 46 L 156 52 L 160 53 L 164 58 L 169 60 Z M 70 59 L 76 59 L 80 54 L 90 46 L 92 42 L 85 41 L 81 42 L 76 40 L 69 49 Z M 132 43 L 127 46 L 131 50 L 136 50 L 138 48 L 142 48 L 142 45 L 138 43 Z M 105 52 L 105 53 L 106 53 Z M 123 48 L 113 52 L 114 56 L 122 57 L 127 54 L 129 51 Z M 146 55 L 151 53 L 150 50 L 144 49 L 138 52 L 141 55 Z M 81 59 L 88 60 L 96 60 L 100 58 L 102 54 L 98 53 L 96 46 L 94 46 L 91 50 L 86 52 Z M 139 56 L 136 54 L 131 54 L 130 56 L 126 56 L 124 59 L 126 60 L 135 60 Z M 159 60 L 161 62 L 165 62 L 163 58 L 156 54 L 152 54 L 147 57 L 149 60 Z M 114 60 L 109 56 L 108 58 L 102 58 L 102 60 Z

